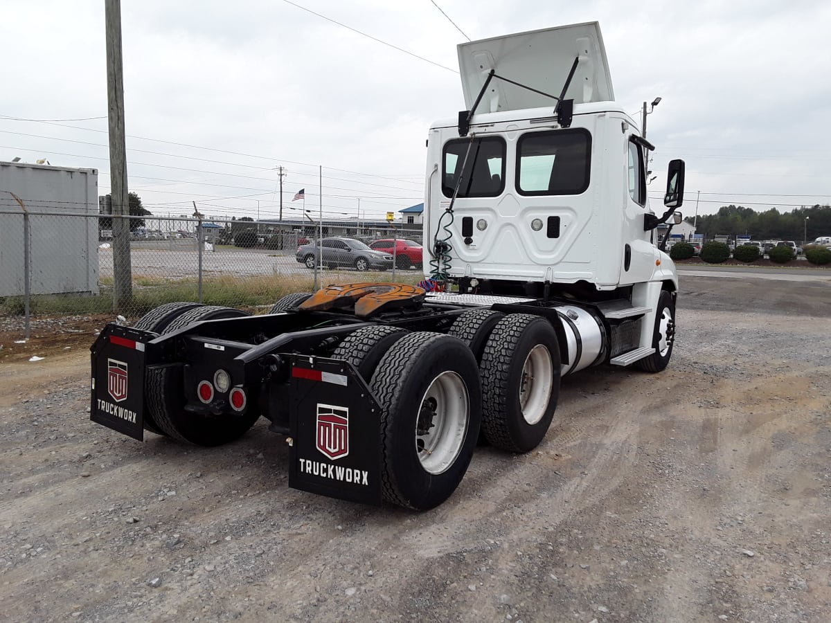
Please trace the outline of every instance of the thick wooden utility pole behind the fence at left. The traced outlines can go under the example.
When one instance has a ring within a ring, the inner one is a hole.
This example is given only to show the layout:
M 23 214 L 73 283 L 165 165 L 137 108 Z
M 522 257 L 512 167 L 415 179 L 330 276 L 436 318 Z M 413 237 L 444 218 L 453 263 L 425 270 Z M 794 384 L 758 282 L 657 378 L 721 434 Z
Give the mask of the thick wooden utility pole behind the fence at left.
M 124 68 L 121 64 L 121 2 L 105 0 L 107 119 L 110 130 L 110 189 L 112 195 L 112 263 L 114 312 L 133 297 L 130 264 L 130 195 L 124 124 Z

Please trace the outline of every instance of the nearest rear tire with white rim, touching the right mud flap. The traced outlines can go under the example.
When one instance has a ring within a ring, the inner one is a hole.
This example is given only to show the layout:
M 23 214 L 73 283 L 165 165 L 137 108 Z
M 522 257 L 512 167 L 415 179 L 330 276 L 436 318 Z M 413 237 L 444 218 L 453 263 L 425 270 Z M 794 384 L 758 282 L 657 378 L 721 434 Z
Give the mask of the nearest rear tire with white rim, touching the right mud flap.
M 414 510 L 444 502 L 479 436 L 481 382 L 462 341 L 417 331 L 381 358 L 370 384 L 381 406 L 381 490 Z

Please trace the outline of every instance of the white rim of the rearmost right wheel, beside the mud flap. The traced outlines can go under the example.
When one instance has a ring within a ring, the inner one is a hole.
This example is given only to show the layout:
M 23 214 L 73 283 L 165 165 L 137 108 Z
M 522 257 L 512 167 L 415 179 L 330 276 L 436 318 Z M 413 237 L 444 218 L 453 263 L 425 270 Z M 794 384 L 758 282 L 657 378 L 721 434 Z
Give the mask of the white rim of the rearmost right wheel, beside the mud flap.
M 416 419 L 416 453 L 421 467 L 432 474 L 443 473 L 459 456 L 470 420 L 470 397 L 461 376 L 451 371 L 436 376 L 421 398 L 421 413 L 430 413 L 428 419 L 433 424 L 426 434 L 419 434 L 422 416 Z

